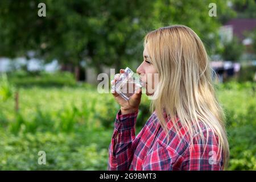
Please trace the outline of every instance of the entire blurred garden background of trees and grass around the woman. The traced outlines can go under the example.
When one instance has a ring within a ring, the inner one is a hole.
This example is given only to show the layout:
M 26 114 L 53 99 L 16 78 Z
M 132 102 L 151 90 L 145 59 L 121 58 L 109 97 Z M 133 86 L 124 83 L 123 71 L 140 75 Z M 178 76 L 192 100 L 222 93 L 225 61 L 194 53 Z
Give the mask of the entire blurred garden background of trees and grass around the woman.
M 119 106 L 97 92 L 97 75 L 135 71 L 146 33 L 172 24 L 200 36 L 217 73 L 229 170 L 255 170 L 255 0 L 1 0 L 0 169 L 107 169 Z M 136 133 L 149 105 L 143 96 Z

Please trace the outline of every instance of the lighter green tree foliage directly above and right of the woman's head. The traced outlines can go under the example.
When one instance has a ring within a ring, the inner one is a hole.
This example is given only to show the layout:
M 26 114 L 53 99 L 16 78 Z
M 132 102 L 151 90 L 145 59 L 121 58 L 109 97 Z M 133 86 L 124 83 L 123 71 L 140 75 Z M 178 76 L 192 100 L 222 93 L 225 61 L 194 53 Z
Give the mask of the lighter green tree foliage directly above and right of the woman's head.
M 185 24 L 191 27 L 204 42 L 209 54 L 216 53 L 220 44 L 218 28 L 225 17 L 233 17 L 236 13 L 228 6 L 228 1 L 164 1 L 156 2 L 154 11 L 157 17 L 156 26 Z M 215 3 L 217 16 L 209 16 L 209 4 Z

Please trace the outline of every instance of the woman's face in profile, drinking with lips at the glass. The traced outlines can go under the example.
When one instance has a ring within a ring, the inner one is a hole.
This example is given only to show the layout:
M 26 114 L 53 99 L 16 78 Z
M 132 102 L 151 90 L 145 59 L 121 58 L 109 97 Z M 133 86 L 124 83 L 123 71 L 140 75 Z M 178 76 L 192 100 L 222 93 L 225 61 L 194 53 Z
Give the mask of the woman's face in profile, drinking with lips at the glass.
M 144 86 L 146 87 L 147 96 L 154 94 L 159 75 L 155 66 L 152 65 L 152 61 L 148 55 L 147 46 L 144 48 L 143 62 L 137 68 L 137 73 L 141 75 L 142 82 L 146 83 Z

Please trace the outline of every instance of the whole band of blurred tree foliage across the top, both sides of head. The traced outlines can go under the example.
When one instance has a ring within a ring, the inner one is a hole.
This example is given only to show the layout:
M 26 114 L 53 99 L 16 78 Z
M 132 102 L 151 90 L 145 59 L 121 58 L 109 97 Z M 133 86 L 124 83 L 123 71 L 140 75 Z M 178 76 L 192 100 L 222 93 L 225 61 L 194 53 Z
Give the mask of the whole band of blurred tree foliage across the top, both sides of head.
M 46 17 L 37 15 L 42 2 Z M 33 50 L 34 57 L 46 61 L 79 65 L 84 60 L 98 72 L 101 65 L 119 69 L 122 64 L 140 62 L 148 31 L 172 24 L 191 27 L 214 52 L 221 18 L 234 16 L 226 2 L 2 0 L 0 55 L 28 56 L 28 50 Z M 209 3 L 216 3 L 217 17 L 208 15 Z

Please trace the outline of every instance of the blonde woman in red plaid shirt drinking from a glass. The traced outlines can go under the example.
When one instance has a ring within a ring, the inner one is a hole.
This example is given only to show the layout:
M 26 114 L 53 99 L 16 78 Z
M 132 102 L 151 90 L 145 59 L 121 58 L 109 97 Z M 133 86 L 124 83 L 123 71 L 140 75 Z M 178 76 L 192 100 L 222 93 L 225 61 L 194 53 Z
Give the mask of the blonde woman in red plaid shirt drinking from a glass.
M 135 137 L 141 90 L 129 101 L 112 90 L 121 109 L 109 146 L 108 169 L 224 169 L 229 158 L 224 113 L 200 38 L 186 26 L 158 28 L 144 38 L 143 58 L 137 73 L 146 82 L 146 94 L 155 97 L 152 115 Z M 157 84 L 148 80 L 150 74 L 159 75 Z M 154 92 L 149 93 L 149 88 Z

